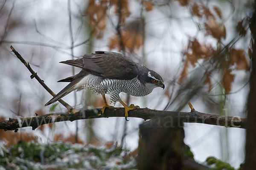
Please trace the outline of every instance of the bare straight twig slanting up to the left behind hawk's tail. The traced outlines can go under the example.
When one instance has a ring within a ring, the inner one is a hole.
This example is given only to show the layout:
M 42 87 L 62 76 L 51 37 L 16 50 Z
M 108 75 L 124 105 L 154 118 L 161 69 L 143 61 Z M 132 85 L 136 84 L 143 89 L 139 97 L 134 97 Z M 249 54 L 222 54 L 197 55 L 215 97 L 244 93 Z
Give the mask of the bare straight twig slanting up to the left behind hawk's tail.
M 14 52 L 14 54 L 16 55 L 16 57 L 18 59 L 20 59 L 20 61 L 26 66 L 26 68 L 28 68 L 28 70 L 30 71 L 30 73 L 32 74 L 30 77 L 31 79 L 33 79 L 35 77 L 35 79 L 38 80 L 38 82 L 44 87 L 45 90 L 47 90 L 49 92 L 49 94 L 51 94 L 52 96 L 55 96 L 56 94 L 44 83 L 44 80 L 42 80 L 37 73 L 30 67 L 29 63 L 26 62 L 25 59 L 23 59 L 23 57 L 21 57 L 21 55 L 12 47 L 11 45 L 11 49 L 12 52 Z M 65 108 L 68 109 L 68 111 L 73 112 L 75 111 L 74 108 L 72 108 L 72 106 L 70 106 L 69 104 L 67 104 L 66 102 L 64 102 L 62 99 L 58 100 L 62 105 L 65 106 Z

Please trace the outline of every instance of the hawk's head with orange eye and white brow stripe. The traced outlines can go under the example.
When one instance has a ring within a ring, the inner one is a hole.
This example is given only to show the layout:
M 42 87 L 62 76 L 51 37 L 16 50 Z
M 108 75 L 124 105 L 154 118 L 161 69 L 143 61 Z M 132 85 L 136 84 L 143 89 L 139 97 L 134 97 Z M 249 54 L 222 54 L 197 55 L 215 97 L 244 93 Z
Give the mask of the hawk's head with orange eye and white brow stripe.
M 164 89 L 163 78 L 153 70 L 149 70 L 145 75 L 145 86 L 150 90 L 157 87 Z

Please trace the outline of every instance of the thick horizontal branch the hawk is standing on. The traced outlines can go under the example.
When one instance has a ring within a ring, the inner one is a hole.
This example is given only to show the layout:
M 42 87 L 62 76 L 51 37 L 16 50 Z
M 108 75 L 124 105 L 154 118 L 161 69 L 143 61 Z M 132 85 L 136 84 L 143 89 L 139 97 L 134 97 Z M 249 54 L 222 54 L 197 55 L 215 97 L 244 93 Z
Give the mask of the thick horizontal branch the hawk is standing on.
M 15 130 L 19 127 L 31 126 L 35 130 L 38 126 L 62 121 L 74 121 L 79 119 L 95 119 L 95 118 L 108 118 L 108 117 L 125 117 L 124 108 L 107 108 L 106 111 L 100 115 L 101 108 L 93 110 L 82 110 L 74 114 L 67 113 L 49 113 L 46 115 L 20 118 L 20 119 L 9 119 L 6 121 L 0 121 L 0 129 L 4 130 Z M 129 117 L 137 117 L 144 120 L 147 119 L 158 119 L 160 116 L 165 116 L 168 122 L 166 126 L 172 126 L 173 115 L 178 115 L 178 120 L 181 122 L 188 123 L 204 123 L 209 125 L 219 125 L 225 127 L 238 127 L 245 128 L 246 119 L 231 117 L 231 116 L 219 116 L 214 114 L 201 113 L 198 111 L 191 112 L 175 112 L 175 111 L 158 111 L 151 110 L 148 108 L 136 109 L 129 111 Z M 159 119 L 160 120 L 160 119 Z

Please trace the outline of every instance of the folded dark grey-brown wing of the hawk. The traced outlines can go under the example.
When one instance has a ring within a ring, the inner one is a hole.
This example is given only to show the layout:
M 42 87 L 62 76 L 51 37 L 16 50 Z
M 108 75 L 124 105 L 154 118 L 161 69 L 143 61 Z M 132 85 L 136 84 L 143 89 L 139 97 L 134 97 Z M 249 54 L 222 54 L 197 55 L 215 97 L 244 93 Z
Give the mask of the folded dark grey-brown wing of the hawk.
M 85 54 L 81 59 L 61 63 L 82 68 L 89 74 L 108 79 L 133 79 L 138 75 L 137 63 L 115 52 L 96 51 L 95 54 Z

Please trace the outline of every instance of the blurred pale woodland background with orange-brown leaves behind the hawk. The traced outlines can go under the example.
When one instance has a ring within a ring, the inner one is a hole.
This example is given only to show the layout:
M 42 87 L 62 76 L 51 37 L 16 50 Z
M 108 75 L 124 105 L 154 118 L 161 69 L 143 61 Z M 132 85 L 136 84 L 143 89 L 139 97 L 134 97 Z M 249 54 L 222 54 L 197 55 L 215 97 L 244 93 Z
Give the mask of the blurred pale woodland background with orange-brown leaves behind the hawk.
M 121 94 L 126 102 L 189 111 L 190 101 L 201 112 L 245 117 L 253 10 L 252 0 L 0 0 L 1 119 L 65 111 L 61 105 L 44 107 L 51 96 L 29 78 L 10 45 L 54 92 L 65 86 L 56 81 L 79 71 L 58 62 L 93 51 L 116 51 L 157 71 L 166 84 L 164 91 L 155 89 L 145 97 Z M 90 91 L 64 100 L 77 109 L 103 105 L 101 96 Z M 0 140 L 7 146 L 20 140 L 93 145 L 111 141 L 135 150 L 142 122 L 59 122 L 33 132 L 0 130 Z M 244 161 L 245 130 L 198 124 L 184 128 L 195 160 L 215 156 L 235 167 Z

